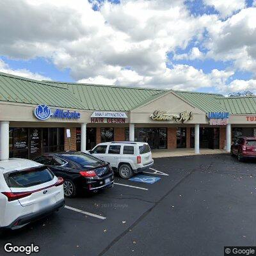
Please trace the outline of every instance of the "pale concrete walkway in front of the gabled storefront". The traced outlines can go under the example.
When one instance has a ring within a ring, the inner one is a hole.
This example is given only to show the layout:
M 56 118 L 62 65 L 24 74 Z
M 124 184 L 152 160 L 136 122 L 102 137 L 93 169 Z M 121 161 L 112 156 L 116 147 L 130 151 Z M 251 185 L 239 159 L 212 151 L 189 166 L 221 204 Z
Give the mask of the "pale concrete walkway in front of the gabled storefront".
M 200 148 L 200 155 L 212 154 L 228 154 L 222 149 Z M 175 148 L 175 149 L 154 149 L 152 150 L 152 157 L 174 157 L 174 156 L 195 156 L 194 148 Z

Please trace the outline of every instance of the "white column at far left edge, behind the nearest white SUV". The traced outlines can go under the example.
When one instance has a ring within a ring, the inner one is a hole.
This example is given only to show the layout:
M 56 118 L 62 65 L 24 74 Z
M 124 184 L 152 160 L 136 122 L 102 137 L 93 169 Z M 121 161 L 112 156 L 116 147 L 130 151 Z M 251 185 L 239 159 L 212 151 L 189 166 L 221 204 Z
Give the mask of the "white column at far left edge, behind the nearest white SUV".
M 0 122 L 0 160 L 9 159 L 9 122 Z

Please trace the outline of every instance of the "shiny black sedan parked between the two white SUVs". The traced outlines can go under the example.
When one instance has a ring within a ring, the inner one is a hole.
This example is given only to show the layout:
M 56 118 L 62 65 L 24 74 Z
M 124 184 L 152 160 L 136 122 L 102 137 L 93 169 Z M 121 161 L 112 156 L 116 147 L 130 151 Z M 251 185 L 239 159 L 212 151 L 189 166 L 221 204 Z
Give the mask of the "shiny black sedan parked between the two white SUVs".
M 74 197 L 82 191 L 113 187 L 114 174 L 109 163 L 82 152 L 61 152 L 38 156 L 34 161 L 46 165 L 64 179 L 64 194 Z

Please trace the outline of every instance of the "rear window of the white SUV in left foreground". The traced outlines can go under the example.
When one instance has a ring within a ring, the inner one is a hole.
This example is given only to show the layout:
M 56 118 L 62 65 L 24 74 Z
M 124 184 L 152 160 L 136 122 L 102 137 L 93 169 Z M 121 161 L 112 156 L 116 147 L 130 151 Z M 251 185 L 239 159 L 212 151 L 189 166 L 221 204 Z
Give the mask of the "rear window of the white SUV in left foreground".
M 10 188 L 28 188 L 49 182 L 54 178 L 52 172 L 45 168 L 33 168 L 24 171 L 6 173 L 6 183 Z

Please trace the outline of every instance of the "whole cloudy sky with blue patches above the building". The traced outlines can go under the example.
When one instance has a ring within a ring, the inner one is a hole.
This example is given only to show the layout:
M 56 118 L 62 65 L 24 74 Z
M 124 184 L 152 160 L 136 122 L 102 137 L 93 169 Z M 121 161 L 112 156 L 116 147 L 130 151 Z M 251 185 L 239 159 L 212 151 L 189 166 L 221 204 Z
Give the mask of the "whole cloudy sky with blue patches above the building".
M 0 0 L 0 71 L 256 92 L 256 0 Z

